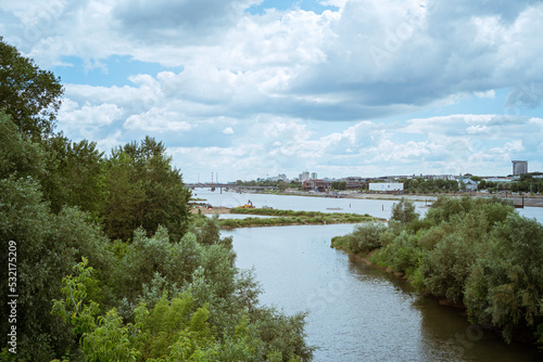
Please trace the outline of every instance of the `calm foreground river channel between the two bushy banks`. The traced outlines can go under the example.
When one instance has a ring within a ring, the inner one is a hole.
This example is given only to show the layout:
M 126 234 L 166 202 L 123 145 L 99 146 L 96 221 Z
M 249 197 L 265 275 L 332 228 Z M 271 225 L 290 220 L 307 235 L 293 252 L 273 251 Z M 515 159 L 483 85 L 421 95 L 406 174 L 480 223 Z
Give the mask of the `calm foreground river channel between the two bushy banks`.
M 255 269 L 261 302 L 308 311 L 315 361 L 541 361 L 530 346 L 505 346 L 460 312 L 405 281 L 330 248 L 353 225 L 252 228 L 233 236 L 237 266 Z

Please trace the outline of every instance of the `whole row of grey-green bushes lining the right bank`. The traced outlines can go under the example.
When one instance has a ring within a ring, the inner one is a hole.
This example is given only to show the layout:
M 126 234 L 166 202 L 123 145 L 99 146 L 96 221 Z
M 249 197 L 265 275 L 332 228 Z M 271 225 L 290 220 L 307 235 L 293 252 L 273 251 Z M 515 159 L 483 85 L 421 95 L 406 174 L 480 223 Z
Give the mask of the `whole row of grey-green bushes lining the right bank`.
M 332 245 L 368 254 L 420 289 L 466 308 L 505 340 L 543 345 L 543 225 L 504 201 L 441 197 L 419 219 L 396 204 L 388 227 L 358 225 Z

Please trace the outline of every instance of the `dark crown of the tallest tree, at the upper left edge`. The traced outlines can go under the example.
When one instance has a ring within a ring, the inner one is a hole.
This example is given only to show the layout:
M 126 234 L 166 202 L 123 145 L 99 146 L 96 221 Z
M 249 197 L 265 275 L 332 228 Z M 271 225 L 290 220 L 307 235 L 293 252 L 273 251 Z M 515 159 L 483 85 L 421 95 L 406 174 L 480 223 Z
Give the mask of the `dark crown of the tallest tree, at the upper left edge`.
M 21 132 L 35 140 L 51 134 L 62 94 L 60 78 L 0 37 L 0 108 L 13 117 Z

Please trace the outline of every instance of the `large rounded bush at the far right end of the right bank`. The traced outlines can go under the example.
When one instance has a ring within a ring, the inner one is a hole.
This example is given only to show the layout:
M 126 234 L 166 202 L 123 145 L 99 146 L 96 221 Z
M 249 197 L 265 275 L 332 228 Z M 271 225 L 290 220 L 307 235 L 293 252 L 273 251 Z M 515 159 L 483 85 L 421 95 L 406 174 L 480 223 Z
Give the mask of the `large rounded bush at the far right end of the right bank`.
M 466 285 L 473 321 L 498 326 L 507 340 L 517 329 L 541 326 L 542 258 L 543 225 L 518 215 L 497 224 Z

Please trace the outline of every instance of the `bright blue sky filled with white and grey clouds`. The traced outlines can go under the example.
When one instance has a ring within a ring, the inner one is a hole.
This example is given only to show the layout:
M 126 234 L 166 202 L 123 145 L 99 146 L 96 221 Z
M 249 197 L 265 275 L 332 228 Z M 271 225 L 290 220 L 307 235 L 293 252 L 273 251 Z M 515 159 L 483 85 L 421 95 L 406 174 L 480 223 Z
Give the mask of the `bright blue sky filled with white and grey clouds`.
M 186 182 L 543 171 L 543 2 L 2 0 L 56 131 L 162 141 Z

